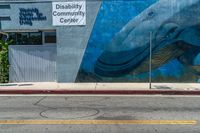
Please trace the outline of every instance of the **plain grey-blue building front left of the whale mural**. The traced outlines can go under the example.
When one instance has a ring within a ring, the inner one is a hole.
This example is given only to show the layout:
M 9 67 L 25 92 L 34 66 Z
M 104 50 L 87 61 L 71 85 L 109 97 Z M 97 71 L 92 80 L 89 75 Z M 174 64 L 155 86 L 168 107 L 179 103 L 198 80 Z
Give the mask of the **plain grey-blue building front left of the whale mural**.
M 68 27 L 52 25 L 52 2 L 0 3 L 1 31 L 14 40 L 10 82 L 75 81 L 101 1 L 87 1 L 87 25 Z

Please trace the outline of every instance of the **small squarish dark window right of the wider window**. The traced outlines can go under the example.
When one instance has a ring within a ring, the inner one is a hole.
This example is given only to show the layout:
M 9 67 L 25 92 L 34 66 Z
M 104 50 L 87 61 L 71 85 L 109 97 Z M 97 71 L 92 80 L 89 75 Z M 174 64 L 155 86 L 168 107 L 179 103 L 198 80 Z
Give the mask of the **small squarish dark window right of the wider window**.
M 44 32 L 44 43 L 56 43 L 56 32 Z

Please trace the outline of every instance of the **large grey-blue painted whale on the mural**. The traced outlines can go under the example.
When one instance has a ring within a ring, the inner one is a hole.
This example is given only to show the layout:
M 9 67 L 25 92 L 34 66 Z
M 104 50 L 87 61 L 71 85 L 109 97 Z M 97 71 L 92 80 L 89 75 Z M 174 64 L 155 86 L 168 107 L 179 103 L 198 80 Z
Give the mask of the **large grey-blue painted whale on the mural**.
M 175 58 L 199 69 L 193 66 L 200 53 L 199 13 L 200 0 L 156 2 L 115 35 L 97 59 L 95 73 L 114 77 L 148 71 L 150 32 L 153 69 Z

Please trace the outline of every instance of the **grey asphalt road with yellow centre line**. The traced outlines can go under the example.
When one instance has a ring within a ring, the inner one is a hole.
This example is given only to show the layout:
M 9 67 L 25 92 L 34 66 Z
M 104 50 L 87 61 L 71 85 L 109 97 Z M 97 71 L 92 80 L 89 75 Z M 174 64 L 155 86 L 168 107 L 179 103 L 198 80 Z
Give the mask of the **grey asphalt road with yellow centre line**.
M 200 133 L 200 97 L 0 97 L 0 133 Z

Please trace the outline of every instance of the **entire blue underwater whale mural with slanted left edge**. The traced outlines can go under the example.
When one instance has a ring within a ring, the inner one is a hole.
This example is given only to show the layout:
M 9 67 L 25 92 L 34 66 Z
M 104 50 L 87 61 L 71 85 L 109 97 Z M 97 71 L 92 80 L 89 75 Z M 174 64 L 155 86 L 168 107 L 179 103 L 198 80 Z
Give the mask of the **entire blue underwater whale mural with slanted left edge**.
M 199 82 L 199 0 L 103 1 L 76 82 Z

